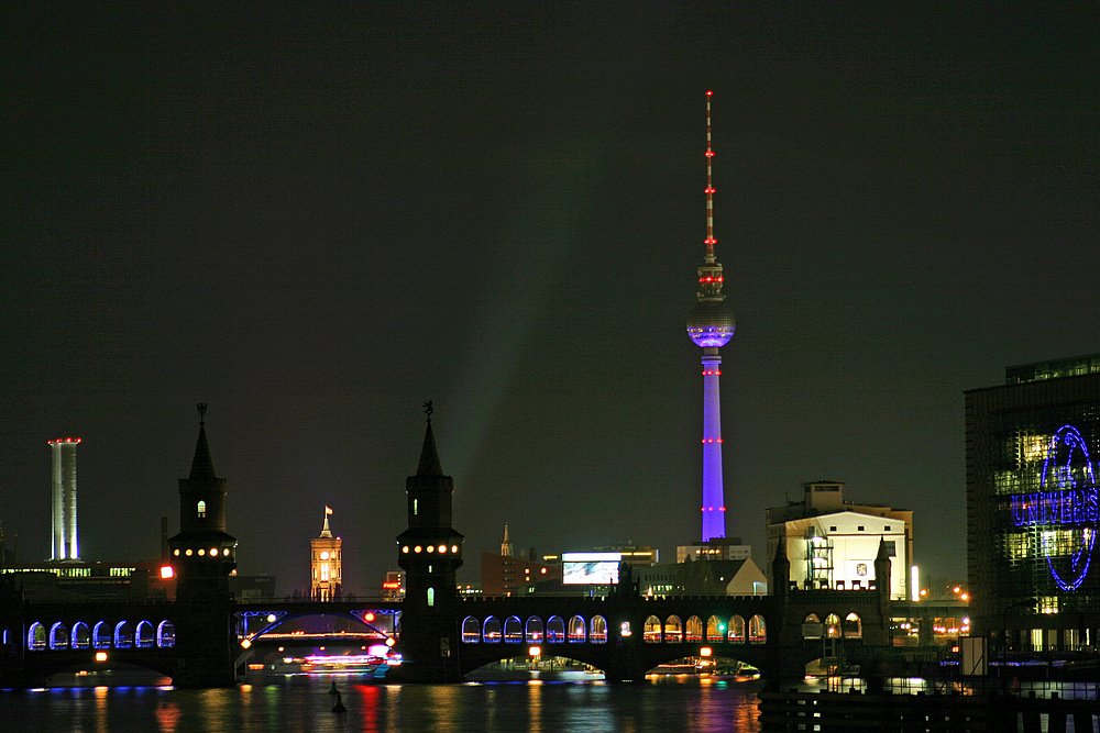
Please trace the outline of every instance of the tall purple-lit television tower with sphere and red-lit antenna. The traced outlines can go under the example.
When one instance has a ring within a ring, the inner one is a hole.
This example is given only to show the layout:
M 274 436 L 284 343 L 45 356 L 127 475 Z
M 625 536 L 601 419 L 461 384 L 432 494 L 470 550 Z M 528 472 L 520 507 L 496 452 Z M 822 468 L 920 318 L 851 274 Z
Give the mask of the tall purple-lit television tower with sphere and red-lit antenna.
M 722 414 L 718 349 L 734 335 L 734 312 L 722 295 L 722 265 L 714 256 L 714 185 L 711 180 L 711 96 L 706 92 L 706 253 L 698 268 L 698 302 L 688 314 L 688 335 L 703 349 L 703 542 L 726 536 L 722 491 Z

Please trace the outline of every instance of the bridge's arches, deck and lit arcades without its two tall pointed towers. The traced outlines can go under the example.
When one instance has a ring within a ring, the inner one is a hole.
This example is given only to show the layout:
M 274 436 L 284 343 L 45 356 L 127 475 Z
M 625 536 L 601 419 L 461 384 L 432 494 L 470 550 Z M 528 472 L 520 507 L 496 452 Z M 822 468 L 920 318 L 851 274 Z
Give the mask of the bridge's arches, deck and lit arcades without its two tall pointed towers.
M 402 649 L 410 622 L 403 618 L 403 606 L 380 600 L 230 602 L 223 624 L 230 633 L 221 640 L 222 664 L 218 676 L 208 679 L 232 684 L 250 662 L 282 647 L 362 645 L 366 649 L 385 644 Z M 9 634 L 6 644 L 9 666 L 18 662 L 21 674 L 9 677 L 7 684 L 33 686 L 62 671 L 118 665 L 146 667 L 175 680 L 189 657 L 176 634 L 180 610 L 169 601 L 21 604 L 22 631 L 18 640 Z M 802 638 L 807 618 L 843 614 L 849 622 L 855 619 L 854 629 L 844 632 L 845 641 L 861 646 L 883 637 L 878 610 L 878 593 L 867 590 L 798 591 L 787 599 L 528 596 L 460 601 L 448 628 L 432 632 L 440 638 L 453 632 L 457 643 L 439 655 L 454 663 L 458 675 L 444 675 L 451 679 L 494 662 L 526 657 L 532 646 L 543 656 L 591 665 L 609 680 L 636 680 L 659 665 L 704 654 L 794 678 L 802 675 L 805 663 L 822 655 L 820 640 Z M 324 617 L 345 620 L 359 631 L 285 631 L 294 620 Z M 433 662 L 407 658 L 406 669 L 395 669 L 392 677 L 438 676 Z M 429 669 L 420 674 L 418 667 Z

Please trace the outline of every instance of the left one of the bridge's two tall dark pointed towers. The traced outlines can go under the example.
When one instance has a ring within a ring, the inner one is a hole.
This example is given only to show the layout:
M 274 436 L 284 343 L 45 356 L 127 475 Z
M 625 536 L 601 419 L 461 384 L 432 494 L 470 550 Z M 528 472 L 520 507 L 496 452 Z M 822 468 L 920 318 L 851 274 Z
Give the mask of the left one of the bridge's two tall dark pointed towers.
M 191 473 L 179 479 L 179 534 L 168 540 L 176 574 L 176 648 L 173 684 L 229 687 L 234 682 L 232 593 L 237 540 L 226 533 L 228 481 L 218 478 L 206 437 L 206 404 L 199 404 L 199 437 Z

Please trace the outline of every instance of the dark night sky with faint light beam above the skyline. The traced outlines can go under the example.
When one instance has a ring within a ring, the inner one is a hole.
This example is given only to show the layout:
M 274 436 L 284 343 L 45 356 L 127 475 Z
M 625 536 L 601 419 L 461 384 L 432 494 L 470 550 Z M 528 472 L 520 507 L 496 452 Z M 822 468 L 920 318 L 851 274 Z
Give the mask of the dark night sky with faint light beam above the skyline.
M 369 592 L 428 399 L 460 579 L 505 523 L 674 559 L 707 89 L 758 564 L 765 508 L 827 478 L 963 577 L 963 390 L 1100 352 L 1091 3 L 35 4 L 0 23 L 0 521 L 30 560 L 64 436 L 81 555 L 154 557 L 202 401 L 241 571 L 306 585 L 328 504 Z

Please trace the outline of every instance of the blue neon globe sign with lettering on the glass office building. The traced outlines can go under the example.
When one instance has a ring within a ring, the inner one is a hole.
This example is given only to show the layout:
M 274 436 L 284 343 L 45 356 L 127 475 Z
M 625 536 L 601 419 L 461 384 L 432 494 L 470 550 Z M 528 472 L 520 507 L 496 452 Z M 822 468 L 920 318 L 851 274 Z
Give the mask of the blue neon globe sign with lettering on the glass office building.
M 1076 590 L 1089 574 L 1097 523 L 1098 490 L 1085 438 L 1072 425 L 1063 425 L 1050 438 L 1043 462 L 1040 490 L 1009 498 L 1016 526 L 1038 526 L 1068 533 L 1067 548 L 1044 542 L 1050 575 L 1063 590 Z

